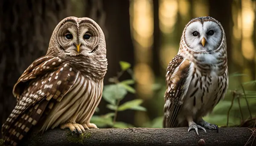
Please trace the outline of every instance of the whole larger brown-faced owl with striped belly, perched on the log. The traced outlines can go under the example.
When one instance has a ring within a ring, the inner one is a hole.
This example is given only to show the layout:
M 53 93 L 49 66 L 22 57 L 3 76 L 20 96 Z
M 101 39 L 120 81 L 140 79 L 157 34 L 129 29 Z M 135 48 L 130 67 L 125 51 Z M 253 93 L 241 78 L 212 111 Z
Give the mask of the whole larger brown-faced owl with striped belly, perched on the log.
M 17 145 L 33 126 L 73 132 L 90 123 L 107 71 L 105 37 L 90 18 L 67 17 L 55 28 L 47 54 L 35 60 L 13 88 L 17 105 L 2 126 L 6 145 Z

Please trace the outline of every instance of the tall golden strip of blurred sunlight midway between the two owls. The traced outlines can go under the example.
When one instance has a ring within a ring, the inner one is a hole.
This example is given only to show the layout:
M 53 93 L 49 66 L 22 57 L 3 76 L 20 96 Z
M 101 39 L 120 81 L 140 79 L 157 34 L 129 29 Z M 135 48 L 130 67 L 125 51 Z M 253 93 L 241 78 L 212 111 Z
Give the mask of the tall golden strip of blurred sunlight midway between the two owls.
M 130 8 L 131 32 L 135 42 L 134 74 L 137 79 L 137 95 L 150 98 L 154 73 L 151 69 L 151 46 L 153 44 L 153 4 L 152 0 L 133 0 Z

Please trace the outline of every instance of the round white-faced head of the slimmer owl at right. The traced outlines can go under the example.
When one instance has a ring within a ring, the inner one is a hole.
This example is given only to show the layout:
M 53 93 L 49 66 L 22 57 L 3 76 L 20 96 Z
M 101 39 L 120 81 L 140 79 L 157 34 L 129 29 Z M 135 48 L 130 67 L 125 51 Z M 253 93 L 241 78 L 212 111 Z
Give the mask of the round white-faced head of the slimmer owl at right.
M 183 39 L 193 52 L 211 52 L 221 46 L 225 34 L 221 23 L 214 18 L 198 17 L 186 25 Z

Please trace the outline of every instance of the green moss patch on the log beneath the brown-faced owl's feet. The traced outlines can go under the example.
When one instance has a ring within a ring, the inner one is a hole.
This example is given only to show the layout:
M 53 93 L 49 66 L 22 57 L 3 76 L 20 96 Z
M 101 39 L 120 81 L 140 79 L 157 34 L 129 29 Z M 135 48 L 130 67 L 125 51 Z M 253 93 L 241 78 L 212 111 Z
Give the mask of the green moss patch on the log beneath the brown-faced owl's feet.
M 79 144 L 84 144 L 85 140 L 91 136 L 91 133 L 86 132 L 82 133 L 81 135 L 72 135 L 71 132 L 67 132 L 67 140 L 70 141 L 71 143 L 79 143 Z

